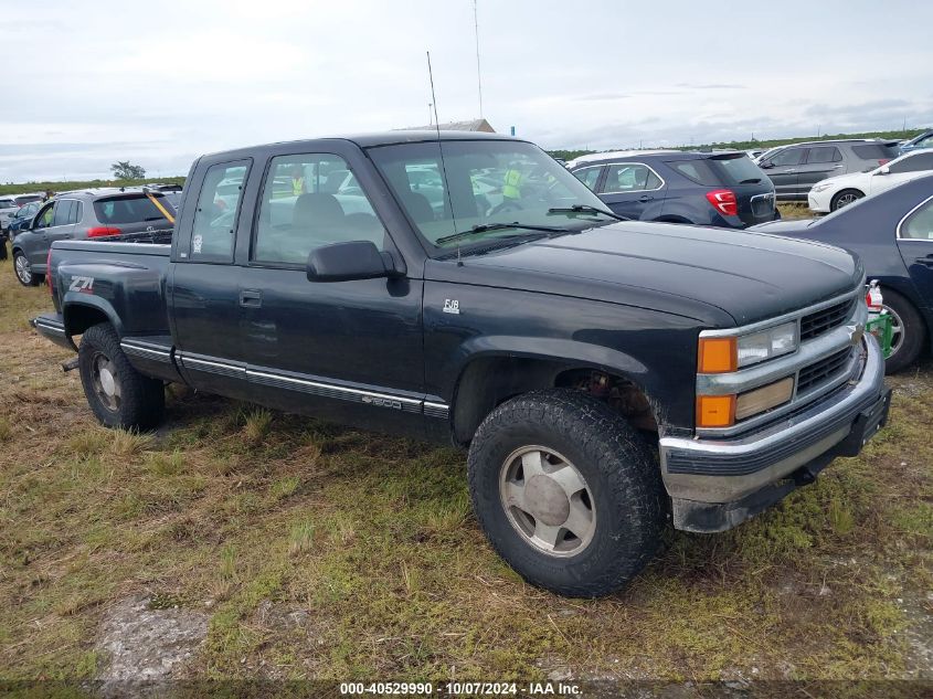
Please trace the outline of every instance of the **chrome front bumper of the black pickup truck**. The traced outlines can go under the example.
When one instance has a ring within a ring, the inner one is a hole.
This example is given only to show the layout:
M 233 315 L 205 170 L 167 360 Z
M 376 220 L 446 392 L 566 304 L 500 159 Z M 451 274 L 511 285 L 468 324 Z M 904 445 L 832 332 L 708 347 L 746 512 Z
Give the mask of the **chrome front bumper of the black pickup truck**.
M 837 456 L 856 456 L 888 419 L 884 358 L 870 335 L 858 377 L 777 424 L 741 438 L 662 437 L 674 526 L 723 531 L 810 483 Z

